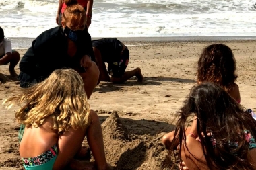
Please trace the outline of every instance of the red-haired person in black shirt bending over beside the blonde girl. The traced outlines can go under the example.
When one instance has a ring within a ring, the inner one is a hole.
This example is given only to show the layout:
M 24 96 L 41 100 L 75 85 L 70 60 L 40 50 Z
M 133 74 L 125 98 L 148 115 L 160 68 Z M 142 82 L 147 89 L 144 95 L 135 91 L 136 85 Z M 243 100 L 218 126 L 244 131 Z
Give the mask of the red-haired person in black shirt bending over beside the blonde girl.
M 42 32 L 32 42 L 20 61 L 18 79 L 21 87 L 30 87 L 46 79 L 55 69 L 72 68 L 82 76 L 90 98 L 98 82 L 99 70 L 94 62 L 85 15 L 81 5 L 69 5 L 63 13 L 62 25 Z

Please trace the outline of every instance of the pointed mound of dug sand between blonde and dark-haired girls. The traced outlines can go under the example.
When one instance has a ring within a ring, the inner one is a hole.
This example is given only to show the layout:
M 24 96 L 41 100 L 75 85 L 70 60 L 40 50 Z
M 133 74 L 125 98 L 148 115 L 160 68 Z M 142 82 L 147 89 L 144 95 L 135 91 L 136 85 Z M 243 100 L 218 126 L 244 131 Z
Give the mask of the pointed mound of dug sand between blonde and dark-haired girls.
M 163 134 L 136 135 L 127 129 L 114 111 L 102 124 L 106 159 L 114 169 L 165 169 L 168 151 Z

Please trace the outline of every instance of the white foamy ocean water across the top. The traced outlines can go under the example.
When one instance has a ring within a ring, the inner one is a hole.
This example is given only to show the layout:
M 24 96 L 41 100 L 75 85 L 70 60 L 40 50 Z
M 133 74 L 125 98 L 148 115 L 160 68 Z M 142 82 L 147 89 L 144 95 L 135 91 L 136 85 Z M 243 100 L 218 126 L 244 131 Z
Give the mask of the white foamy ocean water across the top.
M 57 26 L 58 0 L 0 0 L 5 36 Z M 256 0 L 94 0 L 92 37 L 256 36 Z

